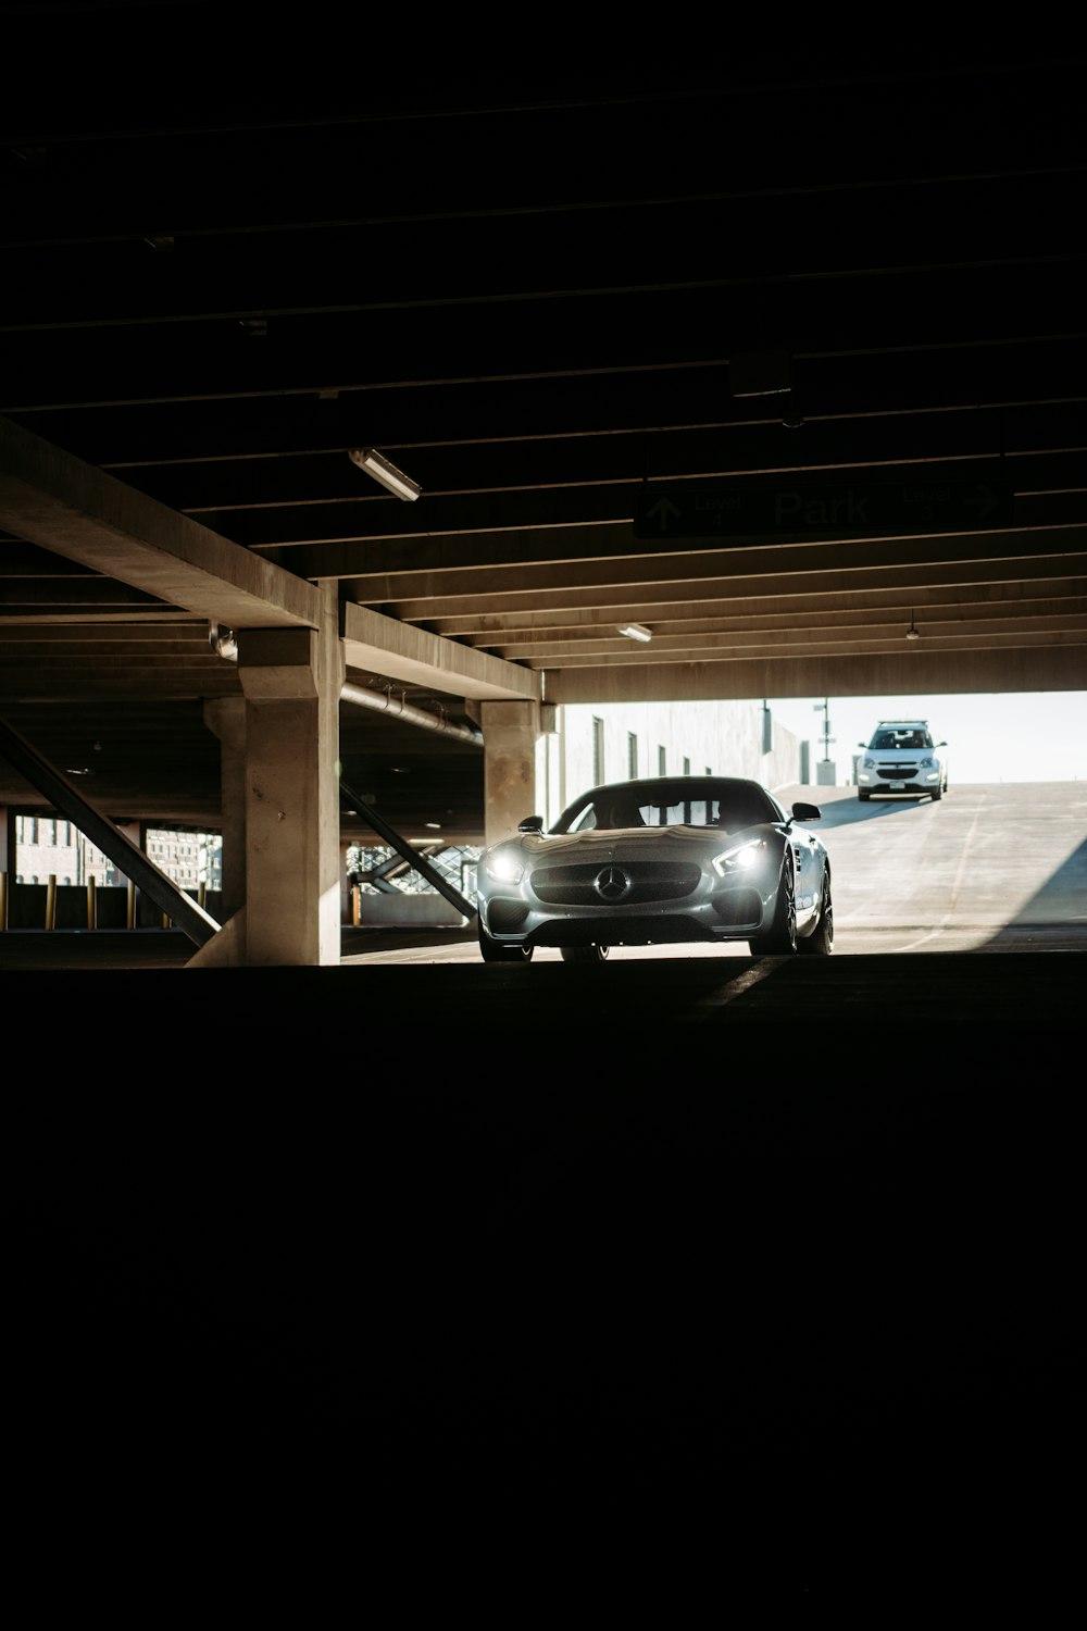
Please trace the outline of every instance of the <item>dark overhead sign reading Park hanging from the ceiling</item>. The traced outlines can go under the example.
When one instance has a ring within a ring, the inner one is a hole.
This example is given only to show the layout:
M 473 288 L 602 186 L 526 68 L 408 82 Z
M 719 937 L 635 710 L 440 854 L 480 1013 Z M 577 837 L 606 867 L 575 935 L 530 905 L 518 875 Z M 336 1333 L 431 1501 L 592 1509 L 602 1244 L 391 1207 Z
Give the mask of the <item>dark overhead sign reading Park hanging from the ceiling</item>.
M 1012 511 L 1010 489 L 989 481 L 678 481 L 645 488 L 634 537 L 968 532 L 1007 527 Z

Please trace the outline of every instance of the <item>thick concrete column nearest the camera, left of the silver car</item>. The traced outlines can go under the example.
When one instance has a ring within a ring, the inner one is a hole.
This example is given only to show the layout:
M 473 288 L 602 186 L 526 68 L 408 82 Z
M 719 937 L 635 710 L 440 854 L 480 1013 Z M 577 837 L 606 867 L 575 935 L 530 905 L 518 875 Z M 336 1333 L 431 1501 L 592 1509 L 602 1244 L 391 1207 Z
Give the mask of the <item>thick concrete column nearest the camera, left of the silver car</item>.
M 316 630 L 241 630 L 249 966 L 341 959 L 337 589 Z

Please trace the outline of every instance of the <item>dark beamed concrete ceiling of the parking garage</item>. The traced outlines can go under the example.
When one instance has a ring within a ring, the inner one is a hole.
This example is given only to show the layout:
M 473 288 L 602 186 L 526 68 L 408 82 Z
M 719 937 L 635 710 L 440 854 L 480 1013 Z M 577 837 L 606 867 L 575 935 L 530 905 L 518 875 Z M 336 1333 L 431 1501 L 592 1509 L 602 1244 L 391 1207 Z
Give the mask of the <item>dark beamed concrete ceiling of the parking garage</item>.
M 479 698 L 1087 688 L 1087 57 L 332 10 L 0 7 L 0 718 L 209 820 L 210 636 L 334 579 L 352 785 L 468 837 Z

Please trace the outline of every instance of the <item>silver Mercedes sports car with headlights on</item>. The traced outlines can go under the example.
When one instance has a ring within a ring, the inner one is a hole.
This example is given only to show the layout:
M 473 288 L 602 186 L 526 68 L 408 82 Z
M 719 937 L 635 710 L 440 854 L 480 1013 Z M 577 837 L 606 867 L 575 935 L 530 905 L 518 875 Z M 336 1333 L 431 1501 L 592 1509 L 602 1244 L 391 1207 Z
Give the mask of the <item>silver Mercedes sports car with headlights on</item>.
M 655 776 L 590 788 L 544 832 L 541 816 L 479 858 L 479 949 L 526 962 L 559 946 L 600 962 L 611 946 L 748 941 L 753 956 L 834 949 L 821 838 L 759 781 Z

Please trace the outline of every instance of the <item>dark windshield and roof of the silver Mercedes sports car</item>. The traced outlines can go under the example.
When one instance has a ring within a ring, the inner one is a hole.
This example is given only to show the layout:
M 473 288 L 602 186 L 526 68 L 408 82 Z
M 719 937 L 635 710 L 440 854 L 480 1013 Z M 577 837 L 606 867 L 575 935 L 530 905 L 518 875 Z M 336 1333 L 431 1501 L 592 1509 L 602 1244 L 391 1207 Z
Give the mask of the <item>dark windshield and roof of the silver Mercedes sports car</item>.
M 621 827 L 717 827 L 742 832 L 761 822 L 786 820 L 786 812 L 756 783 L 644 781 L 595 788 L 572 804 L 552 832 L 590 832 Z

